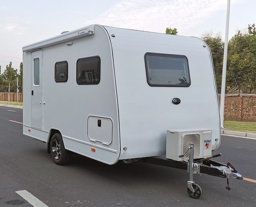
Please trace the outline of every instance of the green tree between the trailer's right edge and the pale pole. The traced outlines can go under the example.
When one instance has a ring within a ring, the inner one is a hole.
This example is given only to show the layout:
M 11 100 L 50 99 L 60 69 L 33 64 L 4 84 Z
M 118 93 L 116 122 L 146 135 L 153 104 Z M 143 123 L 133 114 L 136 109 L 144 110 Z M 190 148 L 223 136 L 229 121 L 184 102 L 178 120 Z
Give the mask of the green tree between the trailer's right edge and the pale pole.
M 221 39 L 221 35 L 217 33 L 215 36 L 213 32 L 206 32 L 202 34 L 202 39 L 208 44 L 212 52 L 212 60 L 214 65 L 217 89 L 221 91 L 222 81 L 222 65 L 224 54 L 224 42 Z

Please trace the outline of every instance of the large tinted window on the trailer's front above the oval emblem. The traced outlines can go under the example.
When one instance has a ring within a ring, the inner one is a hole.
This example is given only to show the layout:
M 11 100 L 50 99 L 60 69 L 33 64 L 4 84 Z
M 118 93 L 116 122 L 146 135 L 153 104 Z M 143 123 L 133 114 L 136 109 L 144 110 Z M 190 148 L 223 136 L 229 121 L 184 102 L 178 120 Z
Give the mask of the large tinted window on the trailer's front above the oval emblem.
M 190 86 L 188 59 L 184 55 L 146 53 L 145 64 L 150 86 Z

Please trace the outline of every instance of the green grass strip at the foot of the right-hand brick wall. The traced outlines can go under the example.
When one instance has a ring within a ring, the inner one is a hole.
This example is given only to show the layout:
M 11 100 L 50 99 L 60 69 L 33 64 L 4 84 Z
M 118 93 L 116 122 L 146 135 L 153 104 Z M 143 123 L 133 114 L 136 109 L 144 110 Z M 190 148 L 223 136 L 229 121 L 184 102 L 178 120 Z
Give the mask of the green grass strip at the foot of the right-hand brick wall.
M 256 122 L 224 121 L 223 125 L 232 131 L 256 133 Z

